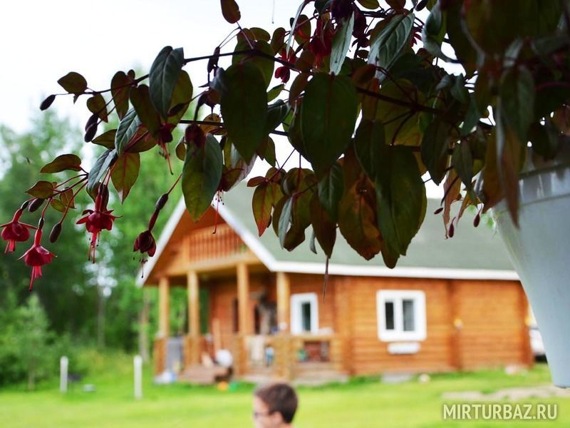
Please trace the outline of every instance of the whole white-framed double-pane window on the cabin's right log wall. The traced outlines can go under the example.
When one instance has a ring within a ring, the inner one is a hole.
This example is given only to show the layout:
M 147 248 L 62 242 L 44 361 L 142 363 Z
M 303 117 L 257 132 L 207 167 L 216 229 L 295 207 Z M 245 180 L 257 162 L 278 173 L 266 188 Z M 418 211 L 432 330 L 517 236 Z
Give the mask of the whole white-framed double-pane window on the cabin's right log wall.
M 425 293 L 412 290 L 376 292 L 378 338 L 383 342 L 425 340 Z

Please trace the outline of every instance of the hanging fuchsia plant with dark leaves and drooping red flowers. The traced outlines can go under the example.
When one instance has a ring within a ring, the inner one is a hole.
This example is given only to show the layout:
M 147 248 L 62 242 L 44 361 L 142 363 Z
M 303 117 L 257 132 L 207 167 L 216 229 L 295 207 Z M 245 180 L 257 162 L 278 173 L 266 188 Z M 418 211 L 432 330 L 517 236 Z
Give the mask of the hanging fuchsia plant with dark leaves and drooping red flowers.
M 328 258 L 338 228 L 363 258 L 381 253 L 394 267 L 425 217 L 425 172 L 444 183 L 442 218 L 450 236 L 465 208 L 484 212 L 503 198 L 516 224 L 527 142 L 533 156 L 544 158 L 566 143 L 567 1 L 413 0 L 406 8 L 403 0 L 304 0 L 291 29 L 272 35 L 242 28 L 236 1 L 221 6 L 236 28 L 211 55 L 185 58 L 182 48 L 166 46 L 147 75 L 118 71 L 100 91 L 76 72 L 58 81 L 69 96 L 87 98 L 92 116 L 85 140 L 105 150 L 89 172 L 74 155 L 44 166 L 41 172 L 76 170 L 78 176 L 71 183 L 39 181 L 22 209 L 47 200 L 65 210 L 76 190 L 86 188 L 95 206 L 81 222 L 92 233 L 94 259 L 100 233 L 116 219 L 108 210 L 110 184 L 123 202 L 140 175 L 141 153 L 158 150 L 171 170 L 176 158 L 183 166 L 135 240 L 135 250 L 152 256 L 152 231 L 177 185 L 197 220 L 261 158 L 272 168 L 248 183 L 255 187 L 260 235 L 272 224 L 281 246 L 293 250 L 312 226 Z M 424 22 L 417 14 L 425 8 Z M 222 51 L 229 39 L 234 51 Z M 232 64 L 222 68 L 225 57 Z M 195 88 L 183 68 L 199 60 L 207 84 Z M 272 76 L 281 83 L 269 88 Z M 188 115 L 193 99 L 196 112 L 209 106 L 209 115 Z M 97 135 L 112 113 L 118 128 Z M 185 127 L 184 137 L 173 143 L 177 127 Z M 289 158 L 296 153 L 312 169 L 276 163 L 271 134 L 286 135 Z M 460 213 L 451 219 L 450 205 L 458 200 Z M 45 211 L 24 258 L 33 277 L 51 262 L 41 246 Z M 52 243 L 61 224 L 53 226 Z M 25 233 L 14 231 L 19 227 L 17 220 L 7 225 L 5 238 L 24 240 Z

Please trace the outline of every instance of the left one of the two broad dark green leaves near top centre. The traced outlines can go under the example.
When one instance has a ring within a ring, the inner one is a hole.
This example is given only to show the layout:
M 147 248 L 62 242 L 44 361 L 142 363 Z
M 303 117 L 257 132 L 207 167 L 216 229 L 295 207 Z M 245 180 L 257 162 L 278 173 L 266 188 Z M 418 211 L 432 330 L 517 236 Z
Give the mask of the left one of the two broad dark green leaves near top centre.
M 251 63 L 230 66 L 224 73 L 227 91 L 221 108 L 229 138 L 246 161 L 267 138 L 267 94 L 259 69 Z

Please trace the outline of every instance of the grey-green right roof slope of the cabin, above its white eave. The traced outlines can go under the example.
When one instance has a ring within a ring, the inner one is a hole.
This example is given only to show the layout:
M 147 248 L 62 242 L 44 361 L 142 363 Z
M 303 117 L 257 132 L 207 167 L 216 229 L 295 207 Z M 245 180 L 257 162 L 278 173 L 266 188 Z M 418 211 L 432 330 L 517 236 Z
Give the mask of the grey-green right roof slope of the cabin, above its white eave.
M 311 228 L 306 230 L 304 243 L 301 243 L 299 247 L 291 252 L 281 248 L 279 239 L 274 234 L 272 228 L 266 230 L 261 237 L 258 236 L 257 226 L 254 223 L 252 214 L 253 191 L 254 189 L 247 188 L 245 183 L 240 183 L 224 195 L 224 210 L 223 212 L 220 211 L 228 223 L 234 225 L 234 228 L 242 235 L 242 238 L 244 238 L 245 232 L 249 239 L 244 240 L 249 247 L 253 247 L 252 250 L 256 252 L 255 247 L 261 245 L 274 258 L 274 262 L 277 264 L 307 265 L 308 263 L 318 263 L 323 265 L 325 256 L 318 244 L 316 245 L 317 255 L 309 249 Z M 460 203 L 454 205 L 457 210 Z M 465 272 L 479 270 L 487 272 L 487 275 L 481 275 L 482 277 L 496 277 L 495 279 L 517 278 L 502 239 L 495 233 L 493 226 L 485 221 L 485 218 L 482 218 L 479 227 L 475 228 L 472 225 L 475 213 L 471 210 L 466 210 L 459 226 L 455 228 L 454 237 L 445 239 L 442 217 L 441 215 L 433 214 L 439 206 L 439 200 L 427 200 L 425 221 L 418 234 L 413 238 L 408 248 L 408 254 L 400 257 L 400 260 L 398 260 L 398 266 L 395 268 L 394 274 L 396 274 L 396 271 L 402 270 L 402 268 L 409 267 L 429 268 L 431 270 L 464 270 Z M 226 218 L 228 216 L 230 218 Z M 257 240 L 257 243 L 253 239 Z M 264 261 L 263 258 L 261 260 Z M 376 255 L 375 258 L 369 261 L 364 260 L 348 245 L 340 232 L 337 233 L 336 245 L 330 265 L 363 267 L 365 269 L 370 267 L 385 268 L 381 255 Z M 353 271 L 353 269 L 350 270 Z M 304 270 L 301 268 L 299 271 Z M 470 275 L 467 275 L 467 277 L 470 277 Z

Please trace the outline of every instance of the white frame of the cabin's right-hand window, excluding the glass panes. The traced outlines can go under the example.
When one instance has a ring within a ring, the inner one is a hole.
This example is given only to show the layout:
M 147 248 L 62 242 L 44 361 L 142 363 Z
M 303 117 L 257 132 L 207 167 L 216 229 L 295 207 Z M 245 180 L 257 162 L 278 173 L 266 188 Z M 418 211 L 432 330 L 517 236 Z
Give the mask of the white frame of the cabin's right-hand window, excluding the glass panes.
M 403 300 L 414 302 L 415 330 L 404 331 Z M 385 303 L 394 304 L 394 329 L 386 330 Z M 426 337 L 425 292 L 421 290 L 378 290 L 376 292 L 378 339 L 382 342 L 420 341 Z

